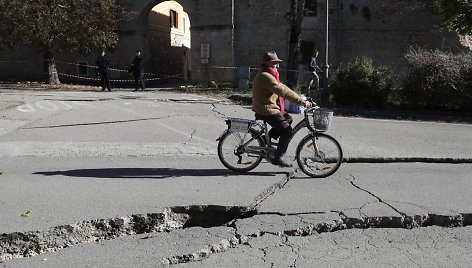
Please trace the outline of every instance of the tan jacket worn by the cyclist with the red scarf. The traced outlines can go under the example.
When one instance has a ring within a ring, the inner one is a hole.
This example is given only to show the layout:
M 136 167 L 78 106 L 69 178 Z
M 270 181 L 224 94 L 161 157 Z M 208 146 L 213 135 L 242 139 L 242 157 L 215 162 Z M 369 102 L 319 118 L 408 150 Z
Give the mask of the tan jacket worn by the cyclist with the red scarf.
M 292 103 L 303 103 L 302 97 L 279 83 L 272 74 L 259 71 L 252 83 L 252 110 L 259 115 L 280 113 L 280 107 L 276 102 L 279 96 Z

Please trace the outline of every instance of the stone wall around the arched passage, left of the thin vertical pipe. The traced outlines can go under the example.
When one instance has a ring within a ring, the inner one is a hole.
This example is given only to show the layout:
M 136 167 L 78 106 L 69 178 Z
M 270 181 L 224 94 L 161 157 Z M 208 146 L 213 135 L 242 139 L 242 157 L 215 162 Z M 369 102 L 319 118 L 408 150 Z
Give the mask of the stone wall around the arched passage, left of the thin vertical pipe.
M 119 57 L 126 66 L 135 50 L 143 51 L 146 66 L 150 66 L 148 15 L 152 8 L 164 0 L 141 0 L 123 3 L 136 12 L 136 17 L 120 25 Z M 208 81 L 215 76 L 209 66 L 232 66 L 234 64 L 234 0 L 176 0 L 186 11 L 191 22 L 191 69 L 192 81 Z M 208 58 L 202 58 L 201 48 L 208 46 Z M 220 77 L 232 80 L 233 75 Z

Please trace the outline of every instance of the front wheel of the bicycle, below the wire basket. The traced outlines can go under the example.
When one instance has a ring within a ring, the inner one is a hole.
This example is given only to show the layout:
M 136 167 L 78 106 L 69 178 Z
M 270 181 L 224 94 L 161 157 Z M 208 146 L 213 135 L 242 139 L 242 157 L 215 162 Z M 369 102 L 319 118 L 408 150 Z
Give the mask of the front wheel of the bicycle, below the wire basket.
M 323 133 L 309 134 L 298 144 L 296 158 L 305 174 L 313 178 L 324 178 L 341 166 L 343 151 L 333 137 Z

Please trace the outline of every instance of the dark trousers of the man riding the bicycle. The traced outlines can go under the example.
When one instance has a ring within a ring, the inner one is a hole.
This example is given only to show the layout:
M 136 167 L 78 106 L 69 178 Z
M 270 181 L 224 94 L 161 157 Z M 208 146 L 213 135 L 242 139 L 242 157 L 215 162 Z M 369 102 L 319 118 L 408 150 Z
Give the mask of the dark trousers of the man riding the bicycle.
M 268 115 L 262 116 L 257 115 L 257 119 L 261 119 L 267 122 L 272 128 L 269 130 L 269 136 L 277 139 L 279 138 L 279 145 L 277 146 L 277 150 L 275 151 L 274 157 L 278 158 L 287 152 L 288 144 L 292 139 L 292 122 L 293 118 L 285 113 L 284 115 L 275 114 L 275 115 Z

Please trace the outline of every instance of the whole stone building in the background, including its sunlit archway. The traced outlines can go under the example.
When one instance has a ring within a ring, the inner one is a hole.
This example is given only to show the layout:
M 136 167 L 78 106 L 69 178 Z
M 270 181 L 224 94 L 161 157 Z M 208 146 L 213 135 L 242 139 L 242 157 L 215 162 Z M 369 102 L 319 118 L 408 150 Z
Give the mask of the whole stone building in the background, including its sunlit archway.
M 120 41 L 110 51 L 112 79 L 130 79 L 124 71 L 137 49 L 143 51 L 147 73 L 184 74 L 193 82 L 236 81 L 237 67 L 258 67 L 261 54 L 277 51 L 288 57 L 290 0 L 120 0 L 136 16 L 120 24 Z M 326 7 L 329 2 L 329 7 Z M 437 30 L 440 18 L 406 7 L 387 13 L 391 0 L 306 0 L 300 67 L 314 48 L 325 62 L 326 11 L 329 17 L 328 63 L 336 68 L 356 56 L 401 70 L 409 46 L 465 50 L 457 34 Z M 97 51 L 98 54 L 98 51 Z M 58 55 L 62 81 L 84 82 L 96 77 L 97 55 Z M 5 64 L 9 62 L 9 64 Z M 284 68 L 284 65 L 282 65 Z M 30 48 L 0 53 L 0 78 L 43 77 L 40 55 Z M 283 74 L 282 74 L 283 75 Z M 191 77 L 190 77 L 191 76 Z M 152 76 L 149 76 L 152 78 Z M 182 77 L 181 77 L 182 78 Z M 157 79 L 156 82 L 160 80 Z

